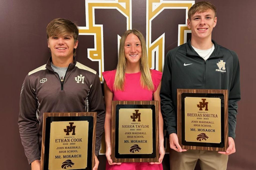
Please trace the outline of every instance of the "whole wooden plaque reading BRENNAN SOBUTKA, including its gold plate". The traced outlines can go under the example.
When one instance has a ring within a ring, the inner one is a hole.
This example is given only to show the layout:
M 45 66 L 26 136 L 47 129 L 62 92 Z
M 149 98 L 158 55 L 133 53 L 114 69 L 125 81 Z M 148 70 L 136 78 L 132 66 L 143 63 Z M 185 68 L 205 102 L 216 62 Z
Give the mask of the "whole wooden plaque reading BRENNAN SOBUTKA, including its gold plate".
M 182 149 L 226 151 L 228 91 L 177 89 L 177 135 Z

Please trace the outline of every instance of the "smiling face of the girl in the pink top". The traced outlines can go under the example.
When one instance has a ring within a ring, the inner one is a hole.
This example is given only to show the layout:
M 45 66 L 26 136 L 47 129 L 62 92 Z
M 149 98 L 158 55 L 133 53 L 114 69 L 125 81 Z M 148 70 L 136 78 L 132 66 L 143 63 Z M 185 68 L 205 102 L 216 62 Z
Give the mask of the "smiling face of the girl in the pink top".
M 141 51 L 141 41 L 137 35 L 133 33 L 127 35 L 124 42 L 126 63 L 140 63 Z

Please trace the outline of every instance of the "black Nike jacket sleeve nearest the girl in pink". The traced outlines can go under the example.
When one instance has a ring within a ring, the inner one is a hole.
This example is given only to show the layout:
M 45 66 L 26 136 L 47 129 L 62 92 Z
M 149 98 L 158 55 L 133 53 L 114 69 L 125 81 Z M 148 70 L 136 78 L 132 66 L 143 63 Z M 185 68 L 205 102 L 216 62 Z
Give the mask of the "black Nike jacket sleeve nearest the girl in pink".
M 172 64 L 170 52 L 167 53 L 164 62 L 163 77 L 160 90 L 161 110 L 168 134 L 177 133 L 177 116 L 172 99 Z

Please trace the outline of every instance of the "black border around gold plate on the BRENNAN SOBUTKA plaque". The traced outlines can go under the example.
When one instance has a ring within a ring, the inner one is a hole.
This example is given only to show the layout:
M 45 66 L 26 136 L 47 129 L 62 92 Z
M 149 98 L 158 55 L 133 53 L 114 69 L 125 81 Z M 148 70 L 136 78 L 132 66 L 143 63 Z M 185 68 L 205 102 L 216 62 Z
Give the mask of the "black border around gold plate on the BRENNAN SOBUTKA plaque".
M 221 142 L 220 143 L 205 143 L 205 142 L 187 142 L 185 141 L 185 98 L 186 97 L 213 97 L 221 99 Z M 200 147 L 216 147 L 224 148 L 225 147 L 225 134 L 224 134 L 224 94 L 221 93 L 182 93 L 181 94 L 181 120 L 182 120 L 182 145 L 186 146 L 200 146 Z

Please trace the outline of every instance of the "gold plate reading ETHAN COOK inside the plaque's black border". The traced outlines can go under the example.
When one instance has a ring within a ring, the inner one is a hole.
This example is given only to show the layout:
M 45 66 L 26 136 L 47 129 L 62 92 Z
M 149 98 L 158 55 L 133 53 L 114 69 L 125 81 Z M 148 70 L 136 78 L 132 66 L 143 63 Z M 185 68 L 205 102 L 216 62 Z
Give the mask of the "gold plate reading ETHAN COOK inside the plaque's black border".
M 49 170 L 58 170 L 60 165 L 61 168 L 68 167 L 71 163 L 66 163 L 66 160 L 72 160 L 74 163 L 68 169 L 85 169 L 87 167 L 88 127 L 88 121 L 51 123 Z M 65 130 L 67 132 L 64 132 Z

